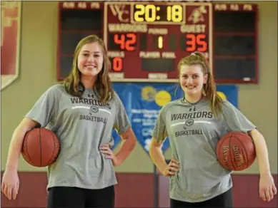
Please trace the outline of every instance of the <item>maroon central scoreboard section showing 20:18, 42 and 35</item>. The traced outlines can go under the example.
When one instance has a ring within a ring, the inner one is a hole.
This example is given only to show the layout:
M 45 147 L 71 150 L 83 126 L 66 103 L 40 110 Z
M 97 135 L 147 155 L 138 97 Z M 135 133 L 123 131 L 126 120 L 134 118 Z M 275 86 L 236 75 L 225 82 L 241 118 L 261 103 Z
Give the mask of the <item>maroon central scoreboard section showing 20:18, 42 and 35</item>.
M 212 4 L 105 2 L 104 12 L 111 80 L 176 82 L 194 51 L 212 63 Z

